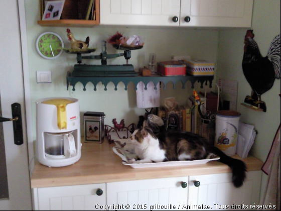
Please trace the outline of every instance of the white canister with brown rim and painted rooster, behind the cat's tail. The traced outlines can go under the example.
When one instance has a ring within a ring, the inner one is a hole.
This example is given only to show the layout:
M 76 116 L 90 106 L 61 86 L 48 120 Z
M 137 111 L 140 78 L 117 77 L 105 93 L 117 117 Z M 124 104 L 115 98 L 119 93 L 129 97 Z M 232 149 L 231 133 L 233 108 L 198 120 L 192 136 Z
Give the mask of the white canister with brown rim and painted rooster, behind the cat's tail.
M 234 111 L 216 113 L 215 146 L 228 156 L 236 153 L 240 117 L 241 114 Z

